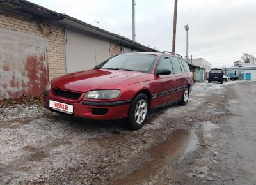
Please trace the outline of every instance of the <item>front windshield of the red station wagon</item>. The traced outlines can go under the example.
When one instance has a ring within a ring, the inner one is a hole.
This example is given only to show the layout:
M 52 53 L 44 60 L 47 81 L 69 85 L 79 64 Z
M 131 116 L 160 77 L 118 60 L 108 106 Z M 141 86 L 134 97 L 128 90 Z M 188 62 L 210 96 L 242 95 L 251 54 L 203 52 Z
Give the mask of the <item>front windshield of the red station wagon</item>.
M 99 68 L 150 73 L 156 57 L 150 54 L 120 54 L 102 63 Z

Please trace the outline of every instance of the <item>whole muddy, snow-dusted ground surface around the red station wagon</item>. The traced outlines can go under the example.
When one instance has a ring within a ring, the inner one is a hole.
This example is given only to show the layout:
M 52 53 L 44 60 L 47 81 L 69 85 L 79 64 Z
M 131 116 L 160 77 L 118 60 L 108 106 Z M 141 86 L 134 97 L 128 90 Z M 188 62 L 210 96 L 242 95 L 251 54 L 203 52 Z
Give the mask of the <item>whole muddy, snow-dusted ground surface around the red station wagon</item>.
M 197 83 L 188 105 L 157 110 L 139 131 L 1 108 L 0 184 L 255 184 L 255 84 Z

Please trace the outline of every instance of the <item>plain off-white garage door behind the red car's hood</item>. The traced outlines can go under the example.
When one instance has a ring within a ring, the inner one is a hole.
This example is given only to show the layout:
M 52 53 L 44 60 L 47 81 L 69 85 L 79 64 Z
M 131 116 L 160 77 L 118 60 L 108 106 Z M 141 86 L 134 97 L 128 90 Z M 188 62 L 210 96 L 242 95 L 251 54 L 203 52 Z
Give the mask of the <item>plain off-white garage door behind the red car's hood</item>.
M 111 55 L 109 41 L 66 30 L 67 73 L 89 70 Z

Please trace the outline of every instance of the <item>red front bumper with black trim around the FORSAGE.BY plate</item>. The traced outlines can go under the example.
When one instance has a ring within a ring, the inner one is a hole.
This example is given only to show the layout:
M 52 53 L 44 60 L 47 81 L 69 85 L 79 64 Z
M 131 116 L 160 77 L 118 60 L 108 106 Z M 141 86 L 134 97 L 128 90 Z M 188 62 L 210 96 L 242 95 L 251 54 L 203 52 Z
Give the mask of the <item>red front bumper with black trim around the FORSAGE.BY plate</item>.
M 87 119 L 98 120 L 113 120 L 122 119 L 127 117 L 131 100 L 123 101 L 85 101 L 78 102 L 67 101 L 67 99 L 56 98 L 51 96 L 51 93 L 44 92 L 44 107 L 52 110 L 49 107 L 49 101 L 58 101 L 61 103 L 67 103 L 74 106 L 74 113 L 72 115 L 76 117 L 84 117 Z M 56 110 L 52 110 L 56 112 Z M 61 112 L 60 112 L 61 113 Z

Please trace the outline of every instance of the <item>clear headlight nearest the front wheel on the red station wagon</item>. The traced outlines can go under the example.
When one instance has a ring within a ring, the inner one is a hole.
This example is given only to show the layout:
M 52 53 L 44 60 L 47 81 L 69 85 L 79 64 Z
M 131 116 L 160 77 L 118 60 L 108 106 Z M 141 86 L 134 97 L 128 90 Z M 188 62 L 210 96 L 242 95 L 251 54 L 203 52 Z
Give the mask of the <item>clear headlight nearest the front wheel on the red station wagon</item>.
M 84 98 L 93 98 L 93 99 L 113 99 L 118 98 L 120 95 L 119 90 L 95 90 L 88 91 Z

